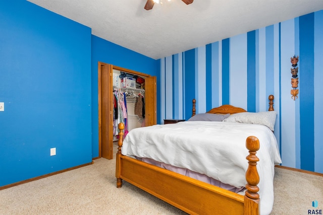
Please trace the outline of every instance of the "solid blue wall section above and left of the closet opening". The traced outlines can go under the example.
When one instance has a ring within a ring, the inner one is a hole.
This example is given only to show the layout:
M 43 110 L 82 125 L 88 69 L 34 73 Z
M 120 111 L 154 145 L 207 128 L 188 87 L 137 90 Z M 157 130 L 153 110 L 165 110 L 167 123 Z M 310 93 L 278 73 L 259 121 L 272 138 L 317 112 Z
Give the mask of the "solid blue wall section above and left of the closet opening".
M 97 62 L 104 62 L 159 77 L 159 60 L 92 35 L 92 157 L 98 157 L 98 71 Z M 158 97 L 157 97 L 158 99 Z M 158 107 L 158 105 L 157 105 Z M 159 108 L 158 110 L 159 111 Z

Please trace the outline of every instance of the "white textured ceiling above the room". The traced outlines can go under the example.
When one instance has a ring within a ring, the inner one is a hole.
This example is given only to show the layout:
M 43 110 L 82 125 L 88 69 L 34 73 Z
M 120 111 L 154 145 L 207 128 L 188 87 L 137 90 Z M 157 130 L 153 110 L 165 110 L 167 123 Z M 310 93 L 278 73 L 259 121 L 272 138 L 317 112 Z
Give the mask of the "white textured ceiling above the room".
M 323 9 L 323 0 L 28 0 L 159 59 Z

